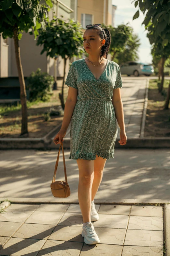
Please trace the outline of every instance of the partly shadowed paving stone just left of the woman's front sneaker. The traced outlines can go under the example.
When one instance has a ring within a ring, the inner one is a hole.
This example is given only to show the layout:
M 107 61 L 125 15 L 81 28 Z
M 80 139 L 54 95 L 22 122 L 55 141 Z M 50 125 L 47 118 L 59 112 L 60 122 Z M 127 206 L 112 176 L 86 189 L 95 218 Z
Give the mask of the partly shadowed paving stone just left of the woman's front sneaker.
M 82 227 L 57 225 L 48 240 L 84 242 Z

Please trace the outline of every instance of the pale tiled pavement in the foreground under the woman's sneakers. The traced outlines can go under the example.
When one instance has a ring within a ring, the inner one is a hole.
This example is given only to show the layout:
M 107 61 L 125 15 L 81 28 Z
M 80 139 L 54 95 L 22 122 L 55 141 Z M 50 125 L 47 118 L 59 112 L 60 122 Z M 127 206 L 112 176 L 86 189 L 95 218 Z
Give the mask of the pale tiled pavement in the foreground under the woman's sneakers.
M 0 255 L 163 256 L 162 206 L 96 204 L 100 243 L 81 236 L 79 204 L 11 204 L 0 214 Z

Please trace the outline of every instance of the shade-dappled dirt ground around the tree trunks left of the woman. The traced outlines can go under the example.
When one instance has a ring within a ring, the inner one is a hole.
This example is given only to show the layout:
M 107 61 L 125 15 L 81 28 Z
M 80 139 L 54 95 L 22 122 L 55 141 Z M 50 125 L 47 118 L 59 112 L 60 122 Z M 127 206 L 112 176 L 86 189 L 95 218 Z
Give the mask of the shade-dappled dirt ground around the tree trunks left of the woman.
M 59 87 L 60 89 L 60 87 Z M 58 94 L 61 90 L 53 91 L 54 95 L 50 102 L 35 104 L 28 108 L 28 131 L 29 138 L 42 138 L 53 128 L 63 121 L 63 116 L 50 116 L 49 121 L 45 121 L 44 113 L 50 107 L 60 106 Z M 68 94 L 68 87 L 65 86 L 64 102 Z M 0 118 L 0 138 L 20 138 L 21 134 L 21 110 L 8 112 L 7 116 L 1 115 Z

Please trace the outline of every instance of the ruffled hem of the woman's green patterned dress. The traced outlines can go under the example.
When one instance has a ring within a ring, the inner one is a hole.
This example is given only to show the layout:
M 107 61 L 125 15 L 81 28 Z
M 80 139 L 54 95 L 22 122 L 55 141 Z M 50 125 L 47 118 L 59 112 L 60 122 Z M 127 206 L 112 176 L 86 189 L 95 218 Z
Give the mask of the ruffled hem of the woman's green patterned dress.
M 95 160 L 96 159 L 96 155 L 109 159 L 109 158 L 114 158 L 114 153 L 110 153 L 109 154 L 102 154 L 99 152 L 96 153 L 70 153 L 69 159 L 84 159 L 84 160 Z

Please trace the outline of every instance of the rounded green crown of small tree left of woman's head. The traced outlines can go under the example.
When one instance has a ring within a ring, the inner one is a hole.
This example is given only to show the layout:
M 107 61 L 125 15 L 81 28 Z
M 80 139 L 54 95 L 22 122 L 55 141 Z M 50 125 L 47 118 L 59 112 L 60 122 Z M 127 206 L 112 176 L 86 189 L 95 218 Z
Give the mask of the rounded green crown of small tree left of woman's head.
M 64 21 L 54 16 L 54 19 L 47 23 L 46 30 L 40 29 L 37 45 L 43 45 L 41 54 L 46 51 L 47 56 L 51 58 L 56 55 L 60 55 L 63 59 L 81 57 L 85 52 L 82 26 L 74 19 Z

